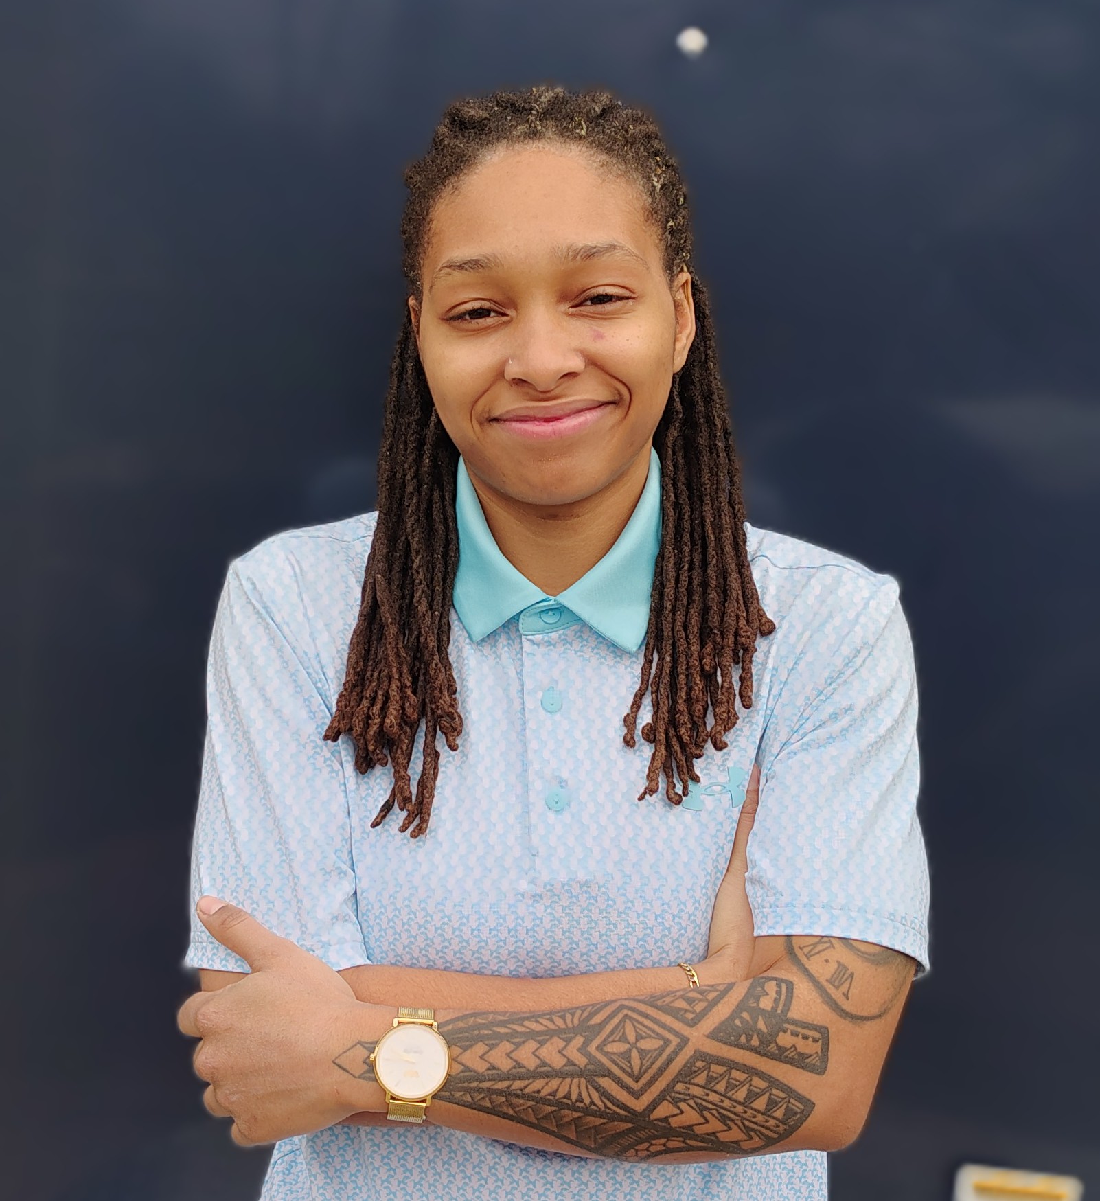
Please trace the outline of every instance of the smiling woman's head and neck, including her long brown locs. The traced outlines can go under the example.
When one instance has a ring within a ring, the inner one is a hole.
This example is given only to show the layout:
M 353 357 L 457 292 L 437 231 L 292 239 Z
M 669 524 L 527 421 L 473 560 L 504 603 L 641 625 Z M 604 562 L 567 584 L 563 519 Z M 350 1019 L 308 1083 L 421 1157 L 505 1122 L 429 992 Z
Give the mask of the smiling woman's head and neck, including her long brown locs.
M 376 820 L 396 803 L 401 830 L 422 836 L 436 729 L 454 751 L 462 725 L 447 661 L 456 455 L 500 551 L 555 596 L 622 533 L 652 449 L 668 528 L 623 742 L 635 745 L 648 689 L 641 736 L 653 753 L 639 799 L 663 772 L 678 805 L 698 779 L 694 760 L 707 742 L 724 748 L 737 723 L 735 695 L 752 706 L 757 638 L 776 626 L 748 564 L 740 467 L 676 162 L 652 119 L 610 94 L 534 88 L 453 104 L 405 178 L 408 321 L 387 398 L 379 520 L 325 737 L 352 734 L 359 771 L 393 755 Z M 407 585 L 391 597 L 395 578 Z M 413 640 L 420 664 L 400 650 Z M 407 765 L 422 721 L 413 796 Z

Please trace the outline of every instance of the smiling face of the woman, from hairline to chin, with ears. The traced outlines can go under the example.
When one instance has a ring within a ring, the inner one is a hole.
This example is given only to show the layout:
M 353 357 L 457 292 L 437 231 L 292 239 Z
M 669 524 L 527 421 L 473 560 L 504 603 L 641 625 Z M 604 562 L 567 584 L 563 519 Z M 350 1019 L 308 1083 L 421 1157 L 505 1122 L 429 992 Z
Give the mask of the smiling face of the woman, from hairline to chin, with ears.
M 574 506 L 645 478 L 695 322 L 636 185 L 568 147 L 500 150 L 437 202 L 420 277 L 420 360 L 479 492 Z

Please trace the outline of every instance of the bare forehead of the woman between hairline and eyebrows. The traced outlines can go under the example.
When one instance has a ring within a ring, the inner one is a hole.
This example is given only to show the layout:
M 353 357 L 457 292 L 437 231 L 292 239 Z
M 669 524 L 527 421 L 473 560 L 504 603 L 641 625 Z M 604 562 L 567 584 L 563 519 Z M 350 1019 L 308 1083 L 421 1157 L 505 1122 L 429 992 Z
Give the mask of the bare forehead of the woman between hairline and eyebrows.
M 610 241 L 660 262 L 662 249 L 635 183 L 570 147 L 508 147 L 464 174 L 436 202 L 424 268 L 430 277 L 443 259 L 531 258 L 539 250 Z

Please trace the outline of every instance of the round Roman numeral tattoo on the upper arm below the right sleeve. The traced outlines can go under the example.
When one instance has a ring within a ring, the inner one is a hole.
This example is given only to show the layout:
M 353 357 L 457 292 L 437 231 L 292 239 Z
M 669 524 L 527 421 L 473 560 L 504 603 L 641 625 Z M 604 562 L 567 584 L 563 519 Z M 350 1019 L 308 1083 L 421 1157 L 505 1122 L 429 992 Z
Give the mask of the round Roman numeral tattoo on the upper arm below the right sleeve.
M 787 954 L 825 1004 L 853 1022 L 889 1014 L 916 966 L 885 946 L 811 934 L 789 934 Z

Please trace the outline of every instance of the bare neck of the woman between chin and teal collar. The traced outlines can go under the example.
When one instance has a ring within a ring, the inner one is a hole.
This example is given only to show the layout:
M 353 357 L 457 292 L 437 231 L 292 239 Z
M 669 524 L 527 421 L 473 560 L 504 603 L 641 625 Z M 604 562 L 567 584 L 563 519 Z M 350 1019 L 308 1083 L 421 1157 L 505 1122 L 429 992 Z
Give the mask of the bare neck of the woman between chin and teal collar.
M 556 597 L 615 545 L 638 504 L 648 471 L 646 443 L 627 470 L 598 492 L 556 506 L 518 501 L 472 472 L 470 482 L 501 554 L 536 587 Z

